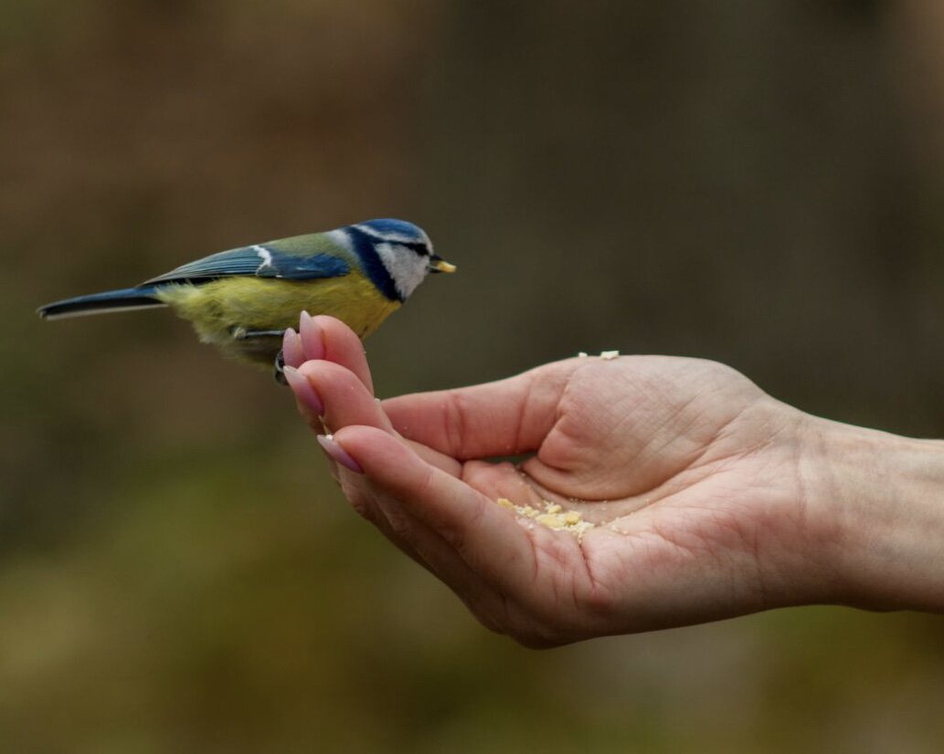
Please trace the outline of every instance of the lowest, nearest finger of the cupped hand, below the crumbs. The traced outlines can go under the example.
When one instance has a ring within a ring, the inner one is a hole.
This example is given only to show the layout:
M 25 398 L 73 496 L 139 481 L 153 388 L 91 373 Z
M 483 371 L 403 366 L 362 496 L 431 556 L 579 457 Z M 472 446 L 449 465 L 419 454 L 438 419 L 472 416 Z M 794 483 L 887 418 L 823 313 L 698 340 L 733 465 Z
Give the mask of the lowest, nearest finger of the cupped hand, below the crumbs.
M 489 586 L 512 597 L 527 594 L 535 576 L 534 550 L 513 514 L 376 428 L 349 426 L 334 441 L 374 489 L 442 537 Z

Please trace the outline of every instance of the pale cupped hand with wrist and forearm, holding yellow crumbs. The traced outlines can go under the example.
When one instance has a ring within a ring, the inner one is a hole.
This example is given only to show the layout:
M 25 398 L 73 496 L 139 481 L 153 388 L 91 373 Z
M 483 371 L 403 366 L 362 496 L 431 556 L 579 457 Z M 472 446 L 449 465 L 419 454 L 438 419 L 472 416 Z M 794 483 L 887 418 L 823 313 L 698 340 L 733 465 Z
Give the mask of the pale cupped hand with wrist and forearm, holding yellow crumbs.
M 347 500 L 528 647 L 812 603 L 944 613 L 938 441 L 812 417 L 697 359 L 572 358 L 378 402 L 339 320 L 303 316 L 284 351 Z

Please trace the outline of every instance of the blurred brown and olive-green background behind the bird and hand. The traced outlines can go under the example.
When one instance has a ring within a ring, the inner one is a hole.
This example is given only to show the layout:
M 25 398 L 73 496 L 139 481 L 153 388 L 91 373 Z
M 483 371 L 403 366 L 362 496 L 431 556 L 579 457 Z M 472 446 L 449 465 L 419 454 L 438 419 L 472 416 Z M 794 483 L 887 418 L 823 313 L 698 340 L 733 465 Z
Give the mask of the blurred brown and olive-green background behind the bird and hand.
M 939 751 L 944 626 L 533 652 L 357 518 L 288 392 L 41 303 L 371 217 L 460 273 L 379 394 L 620 349 L 944 436 L 944 5 L 0 2 L 0 749 Z

